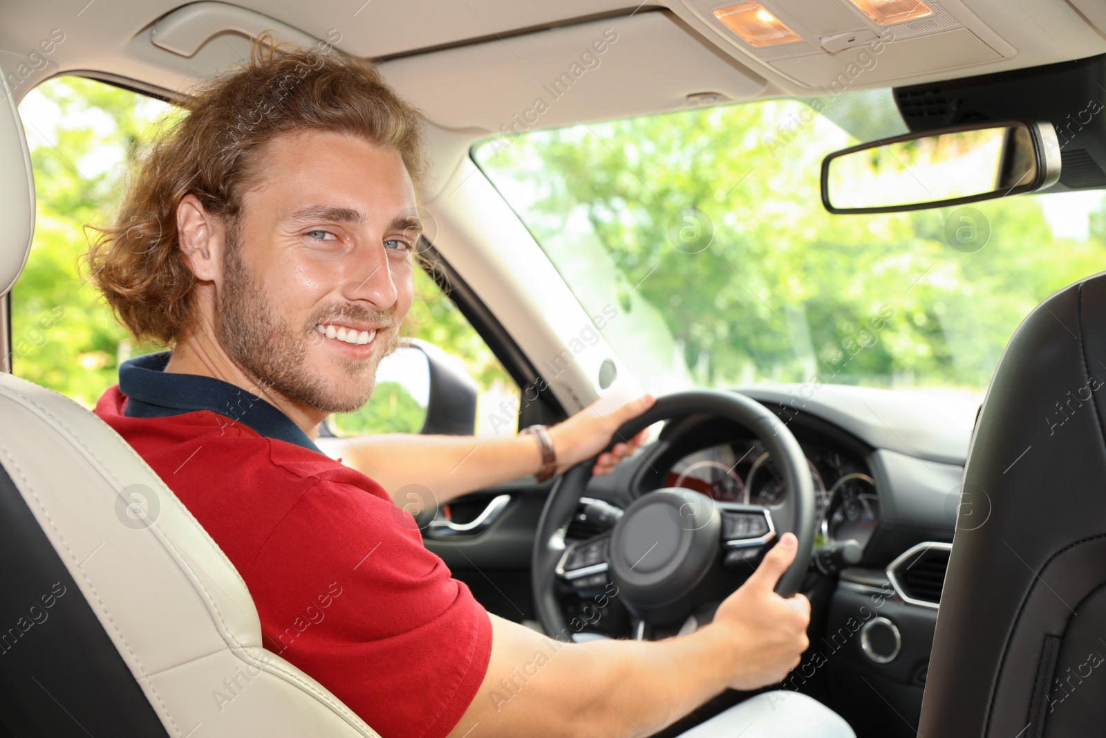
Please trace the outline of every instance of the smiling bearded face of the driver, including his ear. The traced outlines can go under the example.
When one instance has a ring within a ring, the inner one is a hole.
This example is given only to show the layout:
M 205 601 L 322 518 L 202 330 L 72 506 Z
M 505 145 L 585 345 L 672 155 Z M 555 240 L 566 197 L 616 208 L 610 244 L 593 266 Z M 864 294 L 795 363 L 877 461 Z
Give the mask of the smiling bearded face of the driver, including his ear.
M 282 134 L 260 160 L 234 214 L 192 221 L 210 336 L 278 406 L 356 410 L 414 299 L 410 177 L 395 149 L 341 133 Z

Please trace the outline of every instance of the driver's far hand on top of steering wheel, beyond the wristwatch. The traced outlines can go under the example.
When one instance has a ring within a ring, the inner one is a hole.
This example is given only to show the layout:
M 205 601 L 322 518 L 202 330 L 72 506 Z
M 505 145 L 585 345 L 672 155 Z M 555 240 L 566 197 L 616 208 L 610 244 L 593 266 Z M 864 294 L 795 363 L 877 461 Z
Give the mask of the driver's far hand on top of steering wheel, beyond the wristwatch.
M 656 398 L 645 394 L 605 415 L 595 409 L 599 402 L 602 401 L 592 403 L 567 420 L 550 428 L 556 453 L 557 474 L 599 454 L 611 444 L 615 430 L 653 407 Z M 609 451 L 599 454 L 592 474 L 595 476 L 611 474 L 619 461 L 634 455 L 634 451 L 649 437 L 648 434 L 648 429 L 641 430 L 625 441 L 615 444 Z

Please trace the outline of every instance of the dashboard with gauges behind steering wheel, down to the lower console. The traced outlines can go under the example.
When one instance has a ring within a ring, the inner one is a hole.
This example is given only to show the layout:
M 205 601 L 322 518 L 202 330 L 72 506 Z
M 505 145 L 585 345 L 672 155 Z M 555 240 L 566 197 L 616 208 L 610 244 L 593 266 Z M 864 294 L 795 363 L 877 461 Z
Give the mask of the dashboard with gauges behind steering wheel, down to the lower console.
M 825 544 L 853 540 L 862 549 L 858 562 L 836 570 L 812 558 L 804 588 L 812 606 L 812 651 L 800 669 L 804 678 L 814 674 L 811 689 L 831 695 L 837 705 L 853 705 L 857 720 L 869 719 L 864 716 L 874 704 L 886 705 L 887 720 L 872 720 L 878 726 L 870 732 L 886 736 L 887 725 L 906 716 L 912 728 L 920 713 L 940 600 L 939 590 L 932 596 L 933 578 L 941 575 L 939 559 L 918 567 L 914 564 L 920 559 L 911 559 L 900 581 L 921 589 L 911 589 L 916 596 L 908 601 L 887 570 L 916 547 L 936 543 L 940 550 L 952 541 L 978 403 L 951 394 L 833 384 L 805 395 L 804 388 L 765 384 L 739 389 L 774 413 L 799 441 L 817 499 L 815 548 L 843 551 L 852 547 Z M 772 458 L 749 428 L 708 415 L 677 417 L 640 454 L 588 481 L 586 503 L 566 529 L 566 539 L 602 534 L 636 498 L 666 487 L 768 509 L 787 495 Z M 911 578 L 912 583 L 907 581 Z M 591 600 L 577 591 L 565 593 L 562 602 L 566 613 L 583 620 Z M 889 657 L 872 649 L 857 616 L 877 607 L 879 616 L 872 622 L 880 624 L 877 633 L 890 637 L 895 653 Z M 612 637 L 624 637 L 630 621 L 605 617 Z M 864 698 L 873 690 L 881 699 Z

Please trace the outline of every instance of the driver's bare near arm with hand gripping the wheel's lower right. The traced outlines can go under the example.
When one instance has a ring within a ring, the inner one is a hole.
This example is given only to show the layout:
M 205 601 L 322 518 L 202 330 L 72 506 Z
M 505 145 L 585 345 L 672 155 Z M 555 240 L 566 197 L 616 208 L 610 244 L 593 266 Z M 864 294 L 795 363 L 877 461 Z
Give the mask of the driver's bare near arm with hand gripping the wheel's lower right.
M 780 537 L 714 620 L 681 637 L 564 643 L 490 615 L 488 671 L 450 738 L 478 725 L 487 738 L 647 736 L 728 686 L 780 682 L 810 646 L 810 602 L 773 591 L 797 548 L 794 533 Z

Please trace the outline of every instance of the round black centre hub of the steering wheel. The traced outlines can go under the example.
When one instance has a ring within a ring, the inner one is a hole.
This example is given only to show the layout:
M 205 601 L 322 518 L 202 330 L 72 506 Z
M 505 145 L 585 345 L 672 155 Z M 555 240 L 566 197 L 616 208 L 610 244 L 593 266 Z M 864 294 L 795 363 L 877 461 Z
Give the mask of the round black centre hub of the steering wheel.
M 686 615 L 689 595 L 716 568 L 721 514 L 706 495 L 658 489 L 635 500 L 611 538 L 611 575 L 626 605 L 651 620 Z

